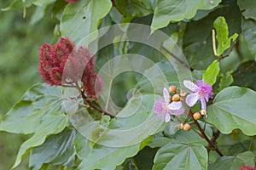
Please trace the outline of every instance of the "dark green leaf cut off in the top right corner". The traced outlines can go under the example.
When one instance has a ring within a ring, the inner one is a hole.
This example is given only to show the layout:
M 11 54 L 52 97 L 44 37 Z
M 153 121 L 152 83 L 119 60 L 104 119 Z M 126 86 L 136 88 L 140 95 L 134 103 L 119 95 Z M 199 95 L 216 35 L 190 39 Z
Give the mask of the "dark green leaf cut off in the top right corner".
M 246 19 L 256 20 L 256 1 L 238 0 L 237 4 Z

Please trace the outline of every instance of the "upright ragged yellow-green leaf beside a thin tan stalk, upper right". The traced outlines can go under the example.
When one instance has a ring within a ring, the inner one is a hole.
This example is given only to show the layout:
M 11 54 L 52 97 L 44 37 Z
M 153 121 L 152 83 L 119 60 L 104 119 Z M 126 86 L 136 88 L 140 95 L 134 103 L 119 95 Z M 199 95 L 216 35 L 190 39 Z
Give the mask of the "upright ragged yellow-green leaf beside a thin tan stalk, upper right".
M 213 22 L 213 26 L 216 30 L 216 39 L 218 41 L 217 56 L 223 54 L 227 48 L 230 48 L 230 40 L 233 42 L 238 37 L 238 34 L 233 34 L 229 37 L 229 27 L 223 16 L 219 16 Z

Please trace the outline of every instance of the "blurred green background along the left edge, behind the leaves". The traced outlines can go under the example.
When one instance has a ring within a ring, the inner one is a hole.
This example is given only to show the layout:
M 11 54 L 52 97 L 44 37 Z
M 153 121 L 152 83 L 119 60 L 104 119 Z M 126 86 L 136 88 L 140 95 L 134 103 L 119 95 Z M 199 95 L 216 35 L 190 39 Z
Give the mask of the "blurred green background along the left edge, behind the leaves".
M 0 8 L 9 1 L 0 0 Z M 41 82 L 38 75 L 38 48 L 53 37 L 54 22 L 45 17 L 37 25 L 30 24 L 34 8 L 22 17 L 21 8 L 0 11 L 0 118 L 9 111 L 31 84 Z M 12 167 L 25 135 L 0 132 L 0 169 Z M 26 162 L 24 163 L 26 164 Z M 27 169 L 27 165 L 19 169 Z

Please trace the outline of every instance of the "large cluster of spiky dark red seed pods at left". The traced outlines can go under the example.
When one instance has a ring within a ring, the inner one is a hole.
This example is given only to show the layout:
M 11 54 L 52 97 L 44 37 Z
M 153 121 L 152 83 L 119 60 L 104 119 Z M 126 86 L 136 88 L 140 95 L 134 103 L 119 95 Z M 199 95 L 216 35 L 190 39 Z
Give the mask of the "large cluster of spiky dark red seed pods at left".
M 54 45 L 43 44 L 39 60 L 38 71 L 44 82 L 51 86 L 81 81 L 90 96 L 95 96 L 96 90 L 102 90 L 102 79 L 95 72 L 94 55 L 88 48 L 75 48 L 67 37 L 61 37 Z

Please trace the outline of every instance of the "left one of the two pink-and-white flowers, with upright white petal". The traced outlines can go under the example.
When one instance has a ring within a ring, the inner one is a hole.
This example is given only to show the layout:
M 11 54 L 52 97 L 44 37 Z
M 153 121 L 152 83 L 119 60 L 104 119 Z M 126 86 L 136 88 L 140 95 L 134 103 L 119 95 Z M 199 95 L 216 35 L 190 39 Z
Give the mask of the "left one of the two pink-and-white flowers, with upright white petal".
M 154 112 L 162 120 L 165 119 L 166 122 L 170 122 L 171 115 L 179 116 L 183 114 L 184 110 L 182 108 L 181 101 L 173 101 L 171 104 L 169 103 L 170 96 L 167 88 L 163 89 L 163 96 L 164 98 L 160 98 L 155 101 Z

